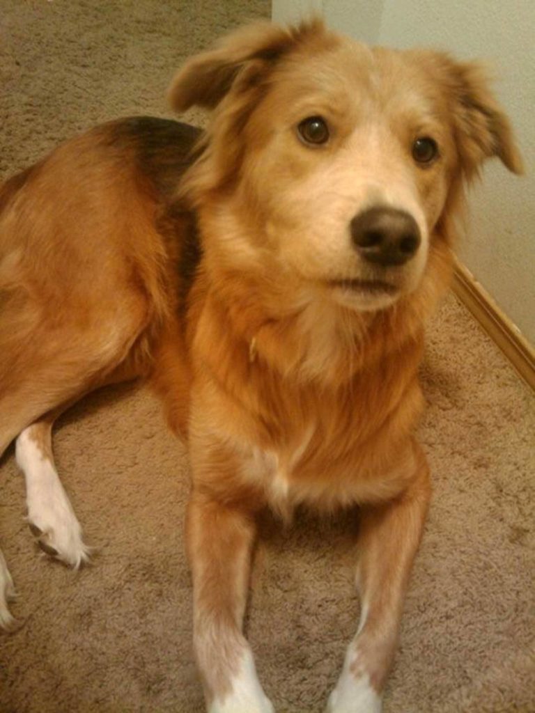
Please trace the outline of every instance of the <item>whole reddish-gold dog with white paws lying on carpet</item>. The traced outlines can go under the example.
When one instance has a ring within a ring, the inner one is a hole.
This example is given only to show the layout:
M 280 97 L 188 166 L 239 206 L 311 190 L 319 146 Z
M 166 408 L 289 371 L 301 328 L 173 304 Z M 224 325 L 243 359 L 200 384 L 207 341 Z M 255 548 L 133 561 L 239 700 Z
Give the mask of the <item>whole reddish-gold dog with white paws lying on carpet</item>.
M 142 377 L 188 443 L 194 648 L 210 713 L 273 711 L 243 634 L 258 514 L 360 506 L 362 610 L 330 713 L 374 713 L 429 505 L 414 426 L 424 323 L 464 185 L 514 173 L 477 63 L 368 48 L 314 19 L 235 31 L 178 72 L 201 132 L 127 118 L 0 187 L 0 454 L 29 525 L 78 567 L 54 419 Z M 0 620 L 13 622 L 0 556 Z

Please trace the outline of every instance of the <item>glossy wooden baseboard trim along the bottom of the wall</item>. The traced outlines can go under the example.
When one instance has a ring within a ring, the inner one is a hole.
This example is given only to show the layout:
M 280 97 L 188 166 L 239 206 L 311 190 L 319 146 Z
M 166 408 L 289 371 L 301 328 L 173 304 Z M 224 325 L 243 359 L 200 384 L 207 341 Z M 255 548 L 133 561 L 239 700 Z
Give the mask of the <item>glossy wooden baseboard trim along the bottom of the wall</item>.
M 535 390 L 535 349 L 501 311 L 486 289 L 481 287 L 472 272 L 458 260 L 454 267 L 452 290 L 504 352 L 520 376 Z

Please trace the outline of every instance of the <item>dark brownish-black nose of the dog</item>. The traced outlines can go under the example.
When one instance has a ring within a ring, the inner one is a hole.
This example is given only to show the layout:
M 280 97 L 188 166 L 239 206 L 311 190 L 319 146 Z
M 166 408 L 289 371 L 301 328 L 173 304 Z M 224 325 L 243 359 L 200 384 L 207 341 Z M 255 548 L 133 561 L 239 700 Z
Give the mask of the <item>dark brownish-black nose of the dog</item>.
M 368 262 L 403 265 L 416 255 L 420 231 L 416 220 L 396 208 L 376 206 L 357 213 L 350 223 L 351 240 Z

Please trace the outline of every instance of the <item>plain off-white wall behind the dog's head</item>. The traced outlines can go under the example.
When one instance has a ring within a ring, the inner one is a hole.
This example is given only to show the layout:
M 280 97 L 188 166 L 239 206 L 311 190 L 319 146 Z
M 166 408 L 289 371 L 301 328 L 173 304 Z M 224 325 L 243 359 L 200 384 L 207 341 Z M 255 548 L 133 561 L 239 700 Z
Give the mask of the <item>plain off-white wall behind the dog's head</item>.
M 332 29 L 369 43 L 432 46 L 488 61 L 519 139 L 526 176 L 487 164 L 470 197 L 460 257 L 535 344 L 535 2 L 533 0 L 273 0 L 273 19 L 312 8 Z

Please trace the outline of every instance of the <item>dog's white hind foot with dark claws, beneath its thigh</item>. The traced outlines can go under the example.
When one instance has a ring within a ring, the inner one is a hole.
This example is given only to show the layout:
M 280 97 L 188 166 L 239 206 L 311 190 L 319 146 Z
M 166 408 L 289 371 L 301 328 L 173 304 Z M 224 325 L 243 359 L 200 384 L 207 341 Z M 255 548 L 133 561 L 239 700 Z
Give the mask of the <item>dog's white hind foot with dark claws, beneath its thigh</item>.
M 82 530 L 54 464 L 23 433 L 16 441 L 16 460 L 26 478 L 28 524 L 41 550 L 78 568 L 89 559 Z

